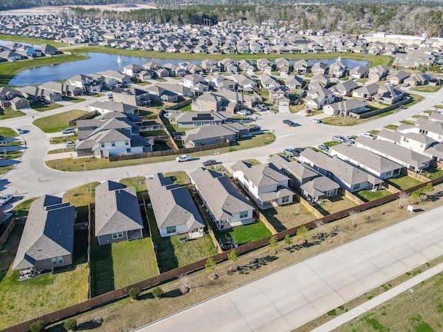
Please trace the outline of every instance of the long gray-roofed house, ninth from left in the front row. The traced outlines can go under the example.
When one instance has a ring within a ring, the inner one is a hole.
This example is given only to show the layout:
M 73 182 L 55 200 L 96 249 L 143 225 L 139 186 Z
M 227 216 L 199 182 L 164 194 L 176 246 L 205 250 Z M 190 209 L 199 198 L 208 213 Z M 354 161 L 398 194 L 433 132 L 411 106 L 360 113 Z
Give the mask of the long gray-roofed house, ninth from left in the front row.
M 372 140 L 359 136 L 356 138 L 354 145 L 374 152 L 374 154 L 379 154 L 415 172 L 427 168 L 431 162 L 431 158 L 388 140 Z

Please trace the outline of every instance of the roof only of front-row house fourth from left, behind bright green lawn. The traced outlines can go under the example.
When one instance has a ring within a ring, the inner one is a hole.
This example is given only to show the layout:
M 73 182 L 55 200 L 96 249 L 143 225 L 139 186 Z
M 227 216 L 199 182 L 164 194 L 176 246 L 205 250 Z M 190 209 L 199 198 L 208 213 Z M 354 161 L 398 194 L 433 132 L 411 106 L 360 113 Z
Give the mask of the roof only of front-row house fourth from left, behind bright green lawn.
M 228 176 L 203 167 L 197 168 L 190 176 L 217 220 L 230 219 L 235 213 L 254 210 Z

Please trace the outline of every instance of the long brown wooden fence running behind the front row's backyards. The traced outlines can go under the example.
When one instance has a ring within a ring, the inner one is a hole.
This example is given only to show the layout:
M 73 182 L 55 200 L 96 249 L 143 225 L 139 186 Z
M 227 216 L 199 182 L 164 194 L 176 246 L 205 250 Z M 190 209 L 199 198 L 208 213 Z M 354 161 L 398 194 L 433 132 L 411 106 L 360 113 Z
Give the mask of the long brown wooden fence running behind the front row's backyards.
M 443 181 L 443 176 L 440 176 L 439 178 L 435 178 L 432 181 L 428 181 L 427 183 L 420 183 L 419 185 L 415 185 L 414 187 L 410 187 L 407 190 L 404 190 L 406 194 L 410 194 L 411 192 L 415 192 L 415 190 L 418 190 L 421 187 L 426 186 L 428 183 L 436 184 Z M 314 228 L 316 221 L 323 221 L 323 223 L 330 223 L 331 221 L 335 221 L 338 219 L 341 219 L 347 215 L 351 211 L 354 212 L 361 212 L 364 210 L 368 210 L 370 208 L 375 208 L 378 205 L 382 205 L 384 203 L 388 203 L 390 201 L 395 201 L 397 199 L 398 194 L 390 194 L 389 196 L 381 197 L 380 199 L 376 199 L 374 201 L 370 201 L 367 203 L 364 203 L 360 206 L 355 206 L 353 208 L 349 208 L 340 212 L 336 212 L 333 214 L 329 214 L 327 216 L 323 216 L 320 219 L 316 219 L 314 221 L 310 221 L 309 223 L 305 223 L 305 227 L 308 229 Z M 284 239 L 284 237 L 288 235 L 295 235 L 297 233 L 298 228 L 300 228 L 302 225 L 296 226 L 294 228 L 291 228 L 289 230 L 284 230 L 282 232 L 279 232 L 275 234 L 275 236 L 281 240 Z M 235 248 L 239 254 L 244 254 L 245 252 L 249 252 L 251 250 L 255 250 L 257 248 L 261 248 L 262 246 L 266 246 L 269 244 L 270 237 L 265 237 L 264 239 L 260 239 L 257 241 L 246 243 L 242 246 L 238 246 Z M 217 255 L 214 255 L 212 258 L 216 262 L 225 261 L 228 259 L 228 253 L 230 251 L 221 252 Z M 156 275 L 155 277 L 145 279 L 142 282 L 137 282 L 135 284 L 125 286 L 123 288 L 118 288 L 115 291 L 111 291 L 109 293 L 105 293 L 102 295 L 98 295 L 97 297 L 93 297 L 91 299 L 87 299 L 84 302 L 80 302 L 78 304 L 74 304 L 73 306 L 68 306 L 66 308 L 60 309 L 58 311 L 54 311 L 52 313 L 47 313 L 46 315 L 42 315 L 39 317 L 35 317 L 32 320 L 28 320 L 26 322 L 22 322 L 20 324 L 10 326 L 6 329 L 3 329 L 2 332 L 26 332 L 29 329 L 30 324 L 37 320 L 42 320 L 46 324 L 53 323 L 53 322 L 60 322 L 61 320 L 64 320 L 66 317 L 71 317 L 73 315 L 77 315 L 79 313 L 82 313 L 84 311 L 89 311 L 93 308 L 96 308 L 98 306 L 102 306 L 103 304 L 106 304 L 108 302 L 113 302 L 116 299 L 120 299 L 123 297 L 127 297 L 127 293 L 129 292 L 129 289 L 138 287 L 141 290 L 146 290 L 148 288 L 151 288 L 152 286 L 155 286 L 156 284 L 161 284 L 163 282 L 166 282 L 170 279 L 176 278 L 178 275 L 181 275 L 183 273 L 191 273 L 195 270 L 200 270 L 201 268 L 204 268 L 206 264 L 206 259 L 201 259 L 200 261 L 196 261 L 192 264 L 188 264 L 186 266 L 181 266 L 179 268 L 174 268 L 174 270 L 169 270 L 165 273 L 162 273 L 161 275 Z

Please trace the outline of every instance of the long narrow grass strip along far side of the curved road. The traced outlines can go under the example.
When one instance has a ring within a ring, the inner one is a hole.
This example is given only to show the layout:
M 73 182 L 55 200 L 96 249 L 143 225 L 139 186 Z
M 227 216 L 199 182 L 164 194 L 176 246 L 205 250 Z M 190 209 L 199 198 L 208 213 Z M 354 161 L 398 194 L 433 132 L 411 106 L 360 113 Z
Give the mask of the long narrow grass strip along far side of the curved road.
M 263 145 L 268 145 L 275 140 L 273 133 L 262 133 L 260 135 L 255 135 L 253 137 L 242 138 L 236 142 L 232 142 L 230 147 L 224 147 L 221 149 L 211 149 L 206 151 L 193 152 L 191 156 L 193 158 L 201 156 L 211 156 L 215 152 L 223 154 L 230 151 L 237 151 L 242 149 L 251 149 L 253 147 L 260 147 Z M 161 161 L 174 160 L 177 156 L 161 156 L 161 157 L 150 157 L 150 158 L 140 158 L 133 160 L 120 160 L 109 162 L 108 159 L 100 158 L 96 160 L 91 160 L 88 158 L 64 158 L 57 160 L 46 160 L 46 165 L 53 169 L 58 169 L 65 172 L 78 172 L 84 170 L 84 163 L 89 170 L 92 169 L 104 169 L 104 168 L 114 168 L 114 167 L 124 167 L 131 165 L 144 165 L 147 163 L 160 163 Z

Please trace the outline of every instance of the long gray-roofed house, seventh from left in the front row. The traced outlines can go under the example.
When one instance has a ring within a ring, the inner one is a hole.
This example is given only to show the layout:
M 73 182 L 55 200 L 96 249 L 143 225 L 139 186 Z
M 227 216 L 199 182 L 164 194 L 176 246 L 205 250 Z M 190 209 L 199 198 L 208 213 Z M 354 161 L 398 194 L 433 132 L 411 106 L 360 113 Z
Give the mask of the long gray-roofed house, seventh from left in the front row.
M 317 172 L 332 179 L 349 192 L 365 189 L 372 190 L 383 183 L 382 180 L 359 167 L 348 164 L 340 158 L 327 156 L 323 152 L 316 152 L 310 148 L 302 151 L 300 160 L 311 165 Z

